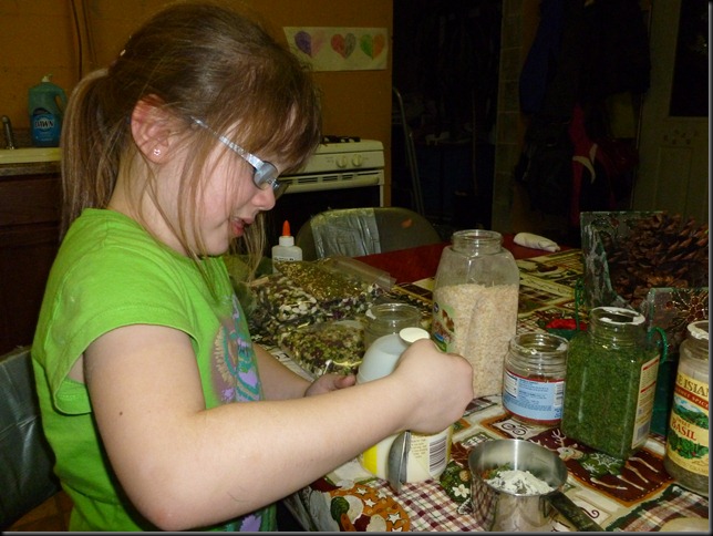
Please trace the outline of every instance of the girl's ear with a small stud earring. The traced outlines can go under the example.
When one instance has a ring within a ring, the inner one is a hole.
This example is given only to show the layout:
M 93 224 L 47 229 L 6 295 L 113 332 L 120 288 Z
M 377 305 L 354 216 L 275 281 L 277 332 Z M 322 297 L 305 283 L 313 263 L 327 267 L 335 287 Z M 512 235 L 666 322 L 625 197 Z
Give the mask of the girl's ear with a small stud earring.
M 132 112 L 132 136 L 143 155 L 155 164 L 164 161 L 170 146 L 170 117 L 157 99 L 143 99 Z

